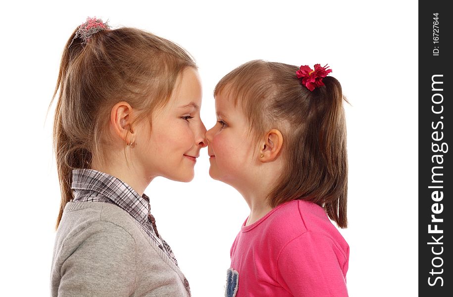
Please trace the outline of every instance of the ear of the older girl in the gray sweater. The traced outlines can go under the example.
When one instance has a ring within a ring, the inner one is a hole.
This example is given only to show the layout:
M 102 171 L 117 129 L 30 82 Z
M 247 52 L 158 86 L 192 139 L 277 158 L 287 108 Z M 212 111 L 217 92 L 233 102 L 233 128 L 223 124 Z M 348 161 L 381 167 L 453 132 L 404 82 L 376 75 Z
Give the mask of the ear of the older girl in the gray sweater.
M 110 124 L 113 131 L 126 143 L 131 142 L 130 138 L 135 141 L 134 137 L 129 135 L 129 133 L 134 134 L 132 129 L 132 111 L 131 105 L 124 101 L 113 105 L 110 111 Z

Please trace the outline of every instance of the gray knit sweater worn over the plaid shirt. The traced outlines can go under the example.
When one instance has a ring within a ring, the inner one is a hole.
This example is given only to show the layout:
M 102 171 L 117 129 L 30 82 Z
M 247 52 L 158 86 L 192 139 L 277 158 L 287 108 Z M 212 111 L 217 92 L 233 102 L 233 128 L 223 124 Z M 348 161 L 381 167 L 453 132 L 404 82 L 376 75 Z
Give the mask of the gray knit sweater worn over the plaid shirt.
M 67 203 L 53 249 L 52 297 L 189 297 L 184 282 L 126 211 L 112 203 Z

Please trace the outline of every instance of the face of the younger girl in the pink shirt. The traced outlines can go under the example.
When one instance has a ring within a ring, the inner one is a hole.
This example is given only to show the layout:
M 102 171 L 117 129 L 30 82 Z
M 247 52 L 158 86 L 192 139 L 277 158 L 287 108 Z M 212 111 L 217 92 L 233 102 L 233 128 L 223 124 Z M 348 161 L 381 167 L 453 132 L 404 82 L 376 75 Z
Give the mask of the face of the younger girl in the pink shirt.
M 223 94 L 215 97 L 215 110 L 217 123 L 206 132 L 209 175 L 239 190 L 252 178 L 245 170 L 252 168 L 254 149 L 247 118 L 242 108 Z

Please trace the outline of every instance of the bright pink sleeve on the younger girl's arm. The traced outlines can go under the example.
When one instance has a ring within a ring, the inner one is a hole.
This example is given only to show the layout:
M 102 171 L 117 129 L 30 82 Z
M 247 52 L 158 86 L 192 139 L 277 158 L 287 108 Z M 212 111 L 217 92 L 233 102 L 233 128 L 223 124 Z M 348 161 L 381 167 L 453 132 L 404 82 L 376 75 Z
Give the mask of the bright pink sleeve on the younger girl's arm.
M 348 255 L 325 236 L 298 236 L 282 249 L 277 266 L 277 280 L 295 297 L 348 296 Z

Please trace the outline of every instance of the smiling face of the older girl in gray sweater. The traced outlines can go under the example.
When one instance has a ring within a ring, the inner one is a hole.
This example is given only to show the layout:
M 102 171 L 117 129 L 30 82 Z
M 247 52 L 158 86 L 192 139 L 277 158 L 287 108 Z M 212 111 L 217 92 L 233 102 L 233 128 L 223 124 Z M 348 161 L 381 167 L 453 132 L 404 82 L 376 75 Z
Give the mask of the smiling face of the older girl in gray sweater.
M 139 164 L 146 177 L 162 176 L 189 182 L 194 178 L 194 166 L 200 149 L 206 145 L 206 128 L 200 119 L 201 82 L 198 71 L 189 67 L 176 83 L 169 102 L 143 121 L 137 131 Z

